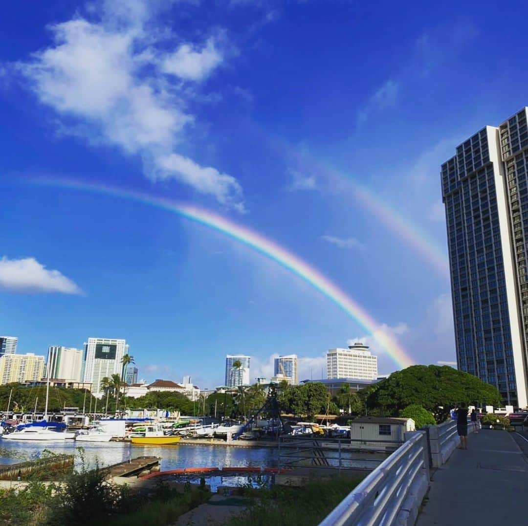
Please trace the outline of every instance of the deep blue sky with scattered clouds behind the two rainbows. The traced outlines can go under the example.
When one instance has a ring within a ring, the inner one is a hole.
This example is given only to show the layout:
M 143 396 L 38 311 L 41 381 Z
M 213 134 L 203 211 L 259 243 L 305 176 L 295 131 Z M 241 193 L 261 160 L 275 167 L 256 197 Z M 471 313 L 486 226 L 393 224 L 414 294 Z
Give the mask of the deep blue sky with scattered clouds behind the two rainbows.
M 140 377 L 191 374 L 202 387 L 223 382 L 227 353 L 250 354 L 252 377 L 271 373 L 275 353 L 297 353 L 300 376 L 319 378 L 326 350 L 359 338 L 380 373 L 396 368 L 275 262 L 163 210 L 35 184 L 53 177 L 225 215 L 332 279 L 417 363 L 454 360 L 449 282 L 428 257 L 447 252 L 439 165 L 528 103 L 524 10 L 5 6 L 0 333 L 41 354 L 124 337 Z

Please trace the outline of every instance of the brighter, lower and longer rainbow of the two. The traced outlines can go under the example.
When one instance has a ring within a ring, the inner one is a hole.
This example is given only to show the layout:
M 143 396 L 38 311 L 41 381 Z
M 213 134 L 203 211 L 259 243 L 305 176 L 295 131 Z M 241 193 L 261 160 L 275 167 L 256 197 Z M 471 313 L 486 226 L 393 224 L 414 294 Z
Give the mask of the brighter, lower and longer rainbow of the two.
M 354 320 L 367 332 L 369 332 L 399 367 L 409 367 L 409 365 L 414 363 L 398 342 L 383 330 L 381 324 L 376 322 L 364 308 L 357 304 L 350 296 L 347 296 L 343 290 L 332 283 L 331 280 L 293 253 L 249 228 L 241 227 L 239 224 L 229 221 L 221 215 L 215 214 L 209 210 L 198 208 L 197 206 L 176 203 L 147 193 L 125 190 L 115 186 L 108 186 L 100 183 L 79 182 L 68 179 L 56 179 L 55 177 L 39 177 L 38 179 L 33 179 L 32 183 L 94 192 L 97 194 L 133 200 L 146 205 L 155 206 L 155 208 L 158 209 L 176 213 L 188 220 L 199 223 L 215 230 L 216 232 L 220 232 L 235 241 L 239 241 L 243 245 L 260 253 L 262 256 L 277 262 L 282 267 L 291 271 L 291 273 L 312 285 L 312 287 L 330 299 L 345 313 L 354 318 Z

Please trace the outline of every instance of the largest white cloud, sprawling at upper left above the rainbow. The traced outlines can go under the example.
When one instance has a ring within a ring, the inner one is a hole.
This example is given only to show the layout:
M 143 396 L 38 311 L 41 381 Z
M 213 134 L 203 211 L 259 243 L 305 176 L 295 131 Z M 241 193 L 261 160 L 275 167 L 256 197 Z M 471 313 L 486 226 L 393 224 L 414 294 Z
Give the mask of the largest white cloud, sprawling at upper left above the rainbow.
M 174 75 L 201 80 L 222 63 L 222 53 L 212 37 L 201 50 L 179 43 L 167 53 L 167 40 L 175 36 L 153 27 L 157 4 L 134 1 L 129 10 L 128 3 L 107 2 L 97 22 L 76 17 L 51 25 L 53 43 L 11 70 L 58 112 L 63 133 L 138 154 L 148 176 L 176 179 L 242 210 L 242 189 L 233 176 L 175 151 L 195 120 L 186 100 L 198 88 L 183 87 Z

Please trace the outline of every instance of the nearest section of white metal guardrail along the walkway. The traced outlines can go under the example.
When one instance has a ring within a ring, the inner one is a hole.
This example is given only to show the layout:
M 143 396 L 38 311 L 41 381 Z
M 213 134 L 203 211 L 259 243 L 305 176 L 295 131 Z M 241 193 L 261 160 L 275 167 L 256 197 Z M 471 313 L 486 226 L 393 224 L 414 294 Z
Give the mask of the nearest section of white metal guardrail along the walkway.
M 429 452 L 425 431 L 406 439 L 319 526 L 413 525 L 429 487 Z

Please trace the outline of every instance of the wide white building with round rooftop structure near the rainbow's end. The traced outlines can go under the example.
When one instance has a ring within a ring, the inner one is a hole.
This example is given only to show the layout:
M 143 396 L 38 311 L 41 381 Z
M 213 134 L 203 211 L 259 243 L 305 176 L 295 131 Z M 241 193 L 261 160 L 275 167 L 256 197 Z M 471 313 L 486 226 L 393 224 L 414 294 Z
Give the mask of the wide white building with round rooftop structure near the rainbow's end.
M 348 345 L 348 349 L 330 349 L 326 355 L 326 375 L 336 378 L 375 380 L 378 378 L 378 356 L 360 342 Z

